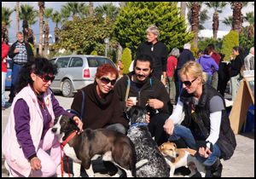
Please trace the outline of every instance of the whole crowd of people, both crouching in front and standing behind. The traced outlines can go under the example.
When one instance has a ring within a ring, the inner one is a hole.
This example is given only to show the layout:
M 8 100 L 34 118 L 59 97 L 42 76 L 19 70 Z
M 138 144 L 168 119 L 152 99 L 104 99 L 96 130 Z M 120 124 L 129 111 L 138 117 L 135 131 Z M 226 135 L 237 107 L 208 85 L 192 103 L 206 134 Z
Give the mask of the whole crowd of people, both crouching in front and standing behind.
M 7 55 L 13 61 L 12 106 L 2 145 L 9 175 L 61 174 L 60 143 L 50 132 L 55 118 L 66 114 L 81 131 L 105 128 L 126 134 L 129 119 L 125 111 L 137 105 L 146 107 L 148 130 L 158 146 L 173 141 L 178 147 L 193 148 L 198 151 L 196 158 L 206 166 L 206 175 L 221 176 L 220 159 L 230 159 L 236 149 L 225 110 L 224 85 L 230 80 L 234 101 L 241 69 L 254 70 L 254 48 L 245 57 L 241 47 L 234 47 L 227 64 L 213 44 L 196 57 L 190 43 L 185 43 L 183 50 L 173 48 L 168 56 L 159 37 L 158 27 L 148 26 L 147 40 L 138 46 L 127 74 L 123 74 L 122 61 L 117 68 L 99 66 L 94 83 L 78 90 L 73 98 L 71 109 L 76 113 L 67 113 L 50 90 L 56 66 L 43 57 L 34 57 L 22 32 L 17 33 L 17 41 L 10 48 L 2 33 L 2 110 Z M 105 165 L 108 168 L 109 164 Z

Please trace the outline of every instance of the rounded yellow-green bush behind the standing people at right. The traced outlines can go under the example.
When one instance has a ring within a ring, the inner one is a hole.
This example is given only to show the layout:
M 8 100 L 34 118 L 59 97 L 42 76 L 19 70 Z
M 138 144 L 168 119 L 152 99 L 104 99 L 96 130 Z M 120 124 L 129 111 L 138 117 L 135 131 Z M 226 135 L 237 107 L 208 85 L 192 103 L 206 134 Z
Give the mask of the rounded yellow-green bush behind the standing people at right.
M 236 31 L 230 31 L 223 38 L 221 53 L 224 54 L 224 61 L 230 61 L 232 49 L 239 45 L 239 34 Z

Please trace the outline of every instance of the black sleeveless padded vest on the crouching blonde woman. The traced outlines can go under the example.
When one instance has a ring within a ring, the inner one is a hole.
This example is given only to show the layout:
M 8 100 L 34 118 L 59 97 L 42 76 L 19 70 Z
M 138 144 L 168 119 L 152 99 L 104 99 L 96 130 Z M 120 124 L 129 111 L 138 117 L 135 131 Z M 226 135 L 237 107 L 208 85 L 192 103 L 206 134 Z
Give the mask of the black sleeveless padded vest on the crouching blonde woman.
M 210 135 L 211 126 L 209 103 L 215 95 L 220 96 L 224 102 L 224 98 L 217 90 L 213 89 L 209 84 L 204 84 L 201 99 L 198 102 L 198 105 L 195 106 L 195 113 L 191 114 L 193 95 L 187 93 L 186 90 L 183 90 L 181 93 L 180 99 L 183 102 L 183 110 L 185 113 L 182 124 L 193 131 L 195 136 L 201 136 L 201 138 L 195 137 L 195 140 L 206 140 Z M 230 119 L 225 110 L 222 111 L 217 144 L 222 152 L 223 159 L 230 159 L 236 148 L 236 138 L 233 130 L 231 130 Z

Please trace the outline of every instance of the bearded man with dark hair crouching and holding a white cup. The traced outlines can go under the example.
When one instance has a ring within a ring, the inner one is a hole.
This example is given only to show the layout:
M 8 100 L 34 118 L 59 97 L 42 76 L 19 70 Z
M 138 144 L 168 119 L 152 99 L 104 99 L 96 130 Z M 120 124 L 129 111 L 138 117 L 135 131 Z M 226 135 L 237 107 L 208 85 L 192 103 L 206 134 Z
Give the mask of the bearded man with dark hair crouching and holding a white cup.
M 133 72 L 128 73 L 114 85 L 120 106 L 125 113 L 127 107 L 138 105 L 146 107 L 148 130 L 158 145 L 167 141 L 163 125 L 172 113 L 172 103 L 167 90 L 159 79 L 152 76 L 152 58 L 148 55 L 138 55 L 134 61 Z M 130 97 L 137 97 L 137 102 Z

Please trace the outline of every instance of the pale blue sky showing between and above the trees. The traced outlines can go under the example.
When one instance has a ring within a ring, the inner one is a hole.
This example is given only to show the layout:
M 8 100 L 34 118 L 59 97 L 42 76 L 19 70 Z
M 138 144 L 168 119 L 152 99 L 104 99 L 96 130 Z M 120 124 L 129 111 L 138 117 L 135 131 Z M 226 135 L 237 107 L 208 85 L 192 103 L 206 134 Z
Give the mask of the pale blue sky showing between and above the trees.
M 20 4 L 29 4 L 34 7 L 34 9 L 39 9 L 38 8 L 38 2 L 20 2 Z M 64 5 L 67 2 L 45 2 L 45 8 L 52 8 L 54 10 L 60 10 L 61 6 Z M 88 2 L 85 2 L 88 3 Z M 104 3 L 111 3 L 111 2 L 94 2 L 94 7 L 98 5 L 102 5 Z M 119 6 L 119 2 L 112 2 L 114 5 Z M 2 7 L 7 7 L 10 9 L 13 9 L 15 7 L 16 2 L 2 2 Z M 178 4 L 179 5 L 179 4 Z M 202 7 L 202 9 L 206 9 L 205 6 Z M 253 11 L 254 12 L 254 6 L 253 2 L 249 2 L 247 7 L 244 7 L 242 10 L 242 14 L 246 14 L 247 12 Z M 187 12 L 187 11 L 186 11 Z M 208 9 L 208 15 L 210 16 L 210 19 L 207 20 L 207 22 L 204 24 L 204 26 L 207 29 L 212 30 L 212 14 L 213 14 L 213 9 Z M 223 9 L 223 13 L 219 14 L 219 20 L 224 20 L 225 17 L 228 17 L 232 15 L 232 10 L 230 9 L 230 5 L 227 5 L 225 9 Z M 11 24 L 9 26 L 9 42 L 13 43 L 15 42 L 15 12 L 11 14 L 10 16 Z M 38 20 L 39 21 L 39 20 Z M 247 23 L 243 24 L 244 26 L 247 26 Z M 22 29 L 22 22 L 20 21 L 20 30 Z M 60 25 L 59 25 L 60 26 Z M 54 37 L 54 29 L 55 29 L 55 23 L 53 23 L 51 20 L 49 20 L 49 33 L 52 34 Z M 38 22 L 32 26 L 32 30 L 37 38 L 37 42 L 39 39 L 39 24 Z M 225 26 L 223 23 L 219 24 L 219 31 L 230 31 L 229 26 Z

